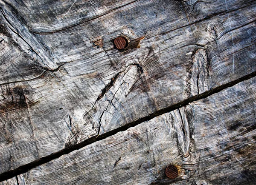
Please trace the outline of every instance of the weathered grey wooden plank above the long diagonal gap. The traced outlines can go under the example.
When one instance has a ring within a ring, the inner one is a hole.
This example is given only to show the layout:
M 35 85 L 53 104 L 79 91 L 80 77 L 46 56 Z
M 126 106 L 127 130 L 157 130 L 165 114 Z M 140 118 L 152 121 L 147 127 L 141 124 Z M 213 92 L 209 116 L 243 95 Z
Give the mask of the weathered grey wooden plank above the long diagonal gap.
M 255 10 L 254 0 L 0 1 L 0 173 L 256 71 Z M 114 49 L 119 35 L 133 48 Z

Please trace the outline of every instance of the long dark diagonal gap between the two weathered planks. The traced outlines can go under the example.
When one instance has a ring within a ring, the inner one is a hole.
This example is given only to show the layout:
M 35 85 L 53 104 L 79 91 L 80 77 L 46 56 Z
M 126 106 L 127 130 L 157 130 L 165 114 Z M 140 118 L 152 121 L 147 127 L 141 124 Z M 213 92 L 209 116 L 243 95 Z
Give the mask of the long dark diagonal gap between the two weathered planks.
M 136 120 L 134 122 L 130 122 L 130 123 L 124 125 L 124 126 L 116 128 L 116 129 L 114 129 L 112 131 L 109 131 L 109 132 L 107 132 L 105 134 L 101 134 L 101 135 L 98 135 L 98 136 L 93 136 L 93 137 L 91 137 L 89 139 L 86 139 L 85 141 L 83 141 L 81 143 L 78 143 L 76 145 L 72 145 L 72 146 L 70 146 L 68 148 L 64 148 L 61 151 L 55 152 L 55 153 L 50 154 L 50 155 L 48 155 L 46 157 L 42 157 L 42 158 L 40 158 L 38 160 L 35 160 L 33 162 L 30 162 L 30 163 L 28 163 L 26 165 L 22 165 L 22 166 L 14 169 L 14 170 L 6 171 L 3 174 L 0 174 L 0 182 L 4 181 L 4 180 L 7 180 L 7 179 L 10 179 L 10 178 L 12 178 L 14 176 L 17 176 L 19 174 L 26 173 L 27 171 L 31 170 L 32 168 L 35 168 L 35 167 L 37 167 L 39 165 L 42 165 L 44 163 L 47 163 L 47 162 L 53 160 L 53 159 L 61 157 L 62 155 L 69 154 L 70 152 L 75 151 L 75 150 L 79 150 L 80 148 L 83 148 L 84 146 L 90 145 L 93 142 L 100 141 L 100 140 L 105 139 L 107 137 L 113 136 L 114 134 L 116 134 L 116 133 L 118 133 L 120 131 L 126 131 L 128 128 L 131 128 L 131 127 L 134 127 L 136 125 L 139 125 L 142 122 L 149 121 L 149 120 L 151 120 L 154 117 L 160 116 L 161 114 L 165 114 L 167 112 L 174 111 L 175 109 L 178 109 L 178 108 L 181 108 L 181 107 L 183 107 L 185 105 L 188 105 L 191 102 L 194 102 L 194 101 L 201 100 L 201 99 L 204 99 L 206 97 L 209 97 L 212 94 L 216 94 L 216 93 L 218 93 L 218 92 L 220 92 L 220 91 L 222 91 L 222 90 L 224 90 L 226 88 L 232 87 L 233 85 L 236 85 L 236 84 L 238 84 L 238 83 L 240 83 L 240 82 L 242 82 L 244 80 L 249 80 L 250 78 L 253 78 L 253 77 L 256 77 L 256 71 L 254 71 L 253 73 L 248 74 L 248 75 L 246 75 L 244 77 L 241 77 L 241 78 L 239 78 L 237 80 L 234 80 L 232 82 L 226 83 L 224 85 L 220 85 L 220 86 L 218 86 L 218 87 L 216 87 L 214 89 L 211 89 L 211 90 L 209 90 L 207 92 L 204 92 L 202 94 L 198 94 L 198 95 L 196 95 L 194 97 L 190 97 L 190 98 L 188 98 L 186 100 L 183 100 L 181 102 L 178 102 L 178 103 L 176 103 L 174 105 L 171 105 L 169 107 L 163 108 L 163 109 L 161 109 L 159 111 L 156 111 L 156 112 L 154 112 L 152 114 L 149 114 L 148 116 L 142 117 L 142 118 L 140 118 L 140 119 L 138 119 L 138 120 Z

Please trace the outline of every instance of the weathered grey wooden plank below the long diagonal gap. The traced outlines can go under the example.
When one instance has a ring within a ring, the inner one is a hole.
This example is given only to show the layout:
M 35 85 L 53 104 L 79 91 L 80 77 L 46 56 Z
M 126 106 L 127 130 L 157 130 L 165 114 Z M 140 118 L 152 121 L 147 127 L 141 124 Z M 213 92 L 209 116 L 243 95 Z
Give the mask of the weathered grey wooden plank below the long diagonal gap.
M 9 181 L 30 185 L 250 185 L 256 178 L 255 107 L 256 77 Z M 169 164 L 179 169 L 176 179 L 164 174 Z

